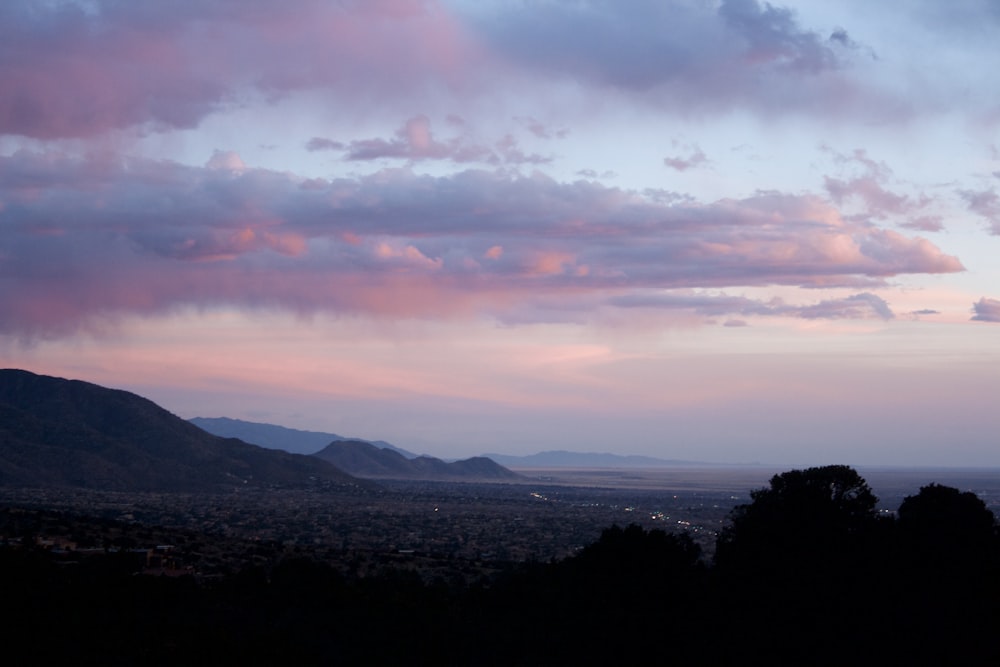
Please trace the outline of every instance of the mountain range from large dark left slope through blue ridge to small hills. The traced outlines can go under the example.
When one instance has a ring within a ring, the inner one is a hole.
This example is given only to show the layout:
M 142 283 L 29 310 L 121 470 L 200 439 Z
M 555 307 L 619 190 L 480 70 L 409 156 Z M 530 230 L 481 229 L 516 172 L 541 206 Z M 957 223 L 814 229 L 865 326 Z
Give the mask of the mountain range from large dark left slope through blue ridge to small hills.
M 225 437 L 234 431 L 271 447 Z M 319 446 L 311 455 L 279 447 L 289 443 Z M 0 370 L 0 486 L 210 492 L 234 485 L 372 485 L 360 478 L 517 477 L 483 457 L 445 462 L 335 434 L 225 418 L 189 422 L 127 391 Z

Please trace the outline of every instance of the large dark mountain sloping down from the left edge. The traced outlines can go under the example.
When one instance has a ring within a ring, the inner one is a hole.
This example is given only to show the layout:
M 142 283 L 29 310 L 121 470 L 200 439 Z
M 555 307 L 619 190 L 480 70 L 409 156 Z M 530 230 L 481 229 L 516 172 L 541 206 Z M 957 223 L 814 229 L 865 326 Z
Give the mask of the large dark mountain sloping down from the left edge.
M 220 438 L 141 396 L 0 370 L 0 485 L 217 491 L 357 486 L 328 462 Z

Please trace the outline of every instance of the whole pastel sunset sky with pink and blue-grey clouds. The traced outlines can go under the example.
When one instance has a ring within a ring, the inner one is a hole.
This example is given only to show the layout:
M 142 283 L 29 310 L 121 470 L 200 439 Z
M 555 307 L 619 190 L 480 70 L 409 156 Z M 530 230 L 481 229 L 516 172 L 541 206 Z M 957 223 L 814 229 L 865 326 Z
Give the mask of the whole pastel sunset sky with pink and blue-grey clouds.
M 992 0 L 6 0 L 0 366 L 442 457 L 1000 466 Z

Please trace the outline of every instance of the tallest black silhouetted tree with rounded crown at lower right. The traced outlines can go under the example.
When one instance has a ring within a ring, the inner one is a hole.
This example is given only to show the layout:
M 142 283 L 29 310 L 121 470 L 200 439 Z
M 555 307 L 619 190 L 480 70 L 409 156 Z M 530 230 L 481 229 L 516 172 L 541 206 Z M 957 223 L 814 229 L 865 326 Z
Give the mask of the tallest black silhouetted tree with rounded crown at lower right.
M 719 632 L 732 647 L 719 661 L 847 662 L 849 645 L 875 639 L 875 495 L 853 468 L 831 465 L 775 475 L 750 497 L 716 542 Z

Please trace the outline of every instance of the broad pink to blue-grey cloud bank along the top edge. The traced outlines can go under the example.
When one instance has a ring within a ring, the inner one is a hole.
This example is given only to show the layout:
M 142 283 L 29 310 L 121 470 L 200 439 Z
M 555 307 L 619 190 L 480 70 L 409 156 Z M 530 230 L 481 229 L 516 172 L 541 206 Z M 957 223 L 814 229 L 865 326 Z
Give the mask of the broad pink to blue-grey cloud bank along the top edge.
M 665 112 L 880 122 L 919 104 L 964 104 L 943 84 L 904 101 L 912 91 L 883 85 L 867 55 L 859 66 L 856 55 L 869 50 L 847 35 L 821 34 L 791 9 L 756 0 L 8 0 L 0 135 L 188 129 L 298 91 L 368 111 L 490 103 L 498 88 L 557 100 L 575 86 L 584 100 L 610 90 Z M 531 116 L 515 121 L 537 139 L 567 134 Z M 395 147 L 387 141 L 381 148 Z

